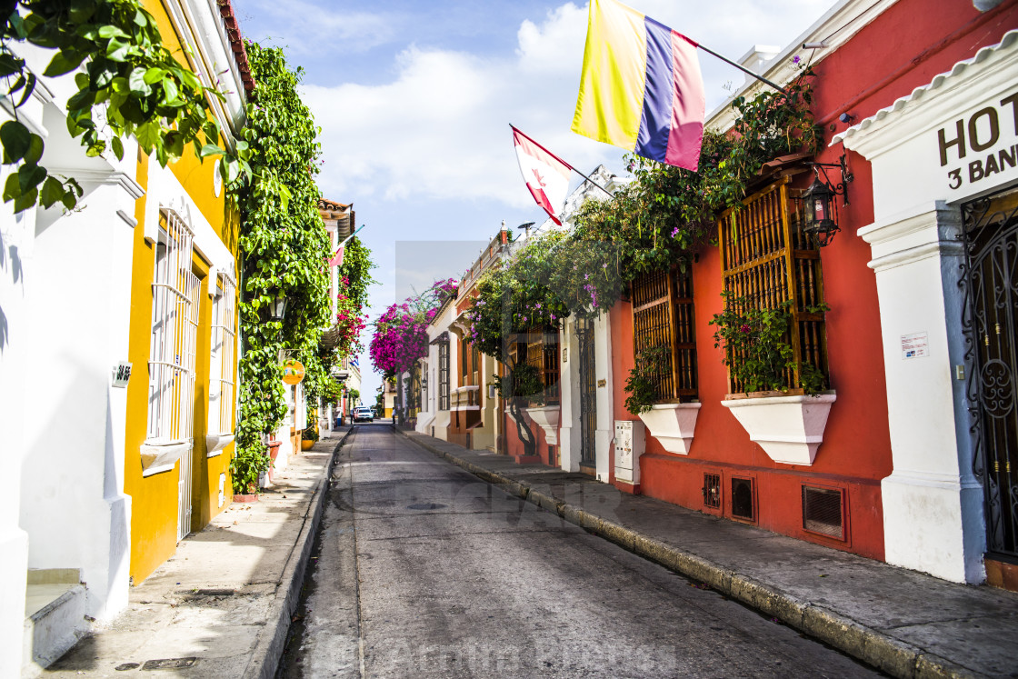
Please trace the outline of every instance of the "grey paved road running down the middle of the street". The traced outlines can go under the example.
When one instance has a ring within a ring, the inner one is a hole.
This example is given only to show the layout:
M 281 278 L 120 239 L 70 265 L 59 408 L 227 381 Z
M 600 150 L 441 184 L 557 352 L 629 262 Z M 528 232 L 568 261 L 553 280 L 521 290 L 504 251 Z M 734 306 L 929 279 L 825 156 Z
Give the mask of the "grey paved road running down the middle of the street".
M 341 450 L 282 677 L 875 676 L 395 434 Z

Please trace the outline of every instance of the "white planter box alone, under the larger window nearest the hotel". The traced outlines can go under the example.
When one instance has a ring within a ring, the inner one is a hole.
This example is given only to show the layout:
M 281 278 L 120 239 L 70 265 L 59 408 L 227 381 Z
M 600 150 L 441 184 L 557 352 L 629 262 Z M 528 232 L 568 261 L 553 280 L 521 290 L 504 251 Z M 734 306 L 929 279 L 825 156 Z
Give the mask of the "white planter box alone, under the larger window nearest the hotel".
M 824 442 L 831 404 L 837 395 L 765 396 L 722 401 L 749 438 L 772 460 L 784 464 L 813 463 Z

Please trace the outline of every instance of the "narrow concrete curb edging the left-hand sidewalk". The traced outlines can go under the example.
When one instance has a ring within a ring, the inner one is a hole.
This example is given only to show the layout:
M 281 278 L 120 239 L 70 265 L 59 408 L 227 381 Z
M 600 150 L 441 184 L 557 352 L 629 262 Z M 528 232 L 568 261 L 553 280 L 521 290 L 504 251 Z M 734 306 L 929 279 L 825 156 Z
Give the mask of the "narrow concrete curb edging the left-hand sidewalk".
M 286 595 L 282 598 L 276 597 L 273 603 L 273 612 L 266 620 L 266 629 L 259 636 L 258 644 L 251 654 L 251 661 L 244 671 L 245 678 L 259 677 L 259 679 L 273 679 L 279 669 L 279 661 L 283 657 L 286 647 L 286 634 L 290 631 L 290 619 L 300 603 L 300 587 L 304 581 L 304 573 L 307 570 L 307 562 L 310 560 L 312 546 L 315 543 L 315 533 L 322 522 L 322 514 L 325 509 L 325 499 L 328 495 L 329 475 L 332 473 L 332 466 L 336 462 L 336 455 L 343 447 L 346 440 L 353 433 L 351 427 L 347 430 L 343 438 L 339 440 L 329 457 L 328 464 L 322 478 L 319 479 L 315 488 L 315 495 L 307 506 L 304 514 L 304 522 L 300 527 L 300 533 L 290 552 L 290 558 L 283 569 L 280 578 L 280 588 L 286 588 Z M 296 558 L 294 558 L 296 556 Z M 279 590 L 277 589 L 277 592 Z

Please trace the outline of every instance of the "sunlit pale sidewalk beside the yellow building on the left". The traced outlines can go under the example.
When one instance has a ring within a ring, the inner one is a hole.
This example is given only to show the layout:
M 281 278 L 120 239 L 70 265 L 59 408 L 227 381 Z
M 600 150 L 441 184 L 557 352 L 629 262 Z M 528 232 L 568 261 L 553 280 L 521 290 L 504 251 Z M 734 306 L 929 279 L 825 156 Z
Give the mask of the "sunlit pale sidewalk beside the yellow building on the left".
M 330 462 L 350 431 L 334 430 L 291 457 L 259 502 L 233 503 L 188 535 L 131 587 L 126 611 L 43 676 L 274 677 L 322 517 Z

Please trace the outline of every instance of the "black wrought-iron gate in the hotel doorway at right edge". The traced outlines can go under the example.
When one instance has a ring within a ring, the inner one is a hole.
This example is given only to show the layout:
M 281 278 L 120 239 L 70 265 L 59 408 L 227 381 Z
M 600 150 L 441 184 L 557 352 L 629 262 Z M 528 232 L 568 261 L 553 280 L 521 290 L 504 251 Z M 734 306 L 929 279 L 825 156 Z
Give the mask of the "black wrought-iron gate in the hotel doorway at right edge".
M 986 551 L 1018 557 L 1018 189 L 962 206 L 966 383 Z

